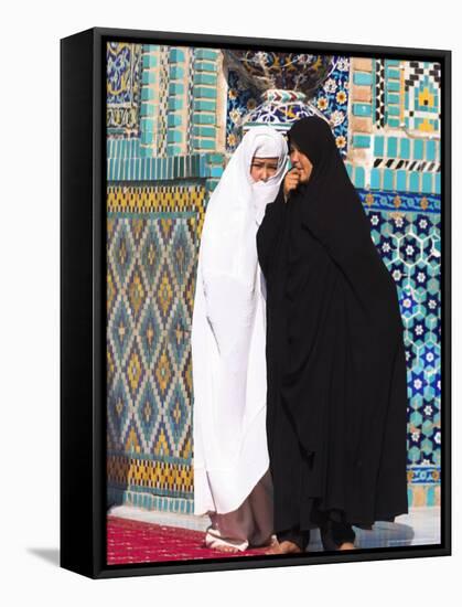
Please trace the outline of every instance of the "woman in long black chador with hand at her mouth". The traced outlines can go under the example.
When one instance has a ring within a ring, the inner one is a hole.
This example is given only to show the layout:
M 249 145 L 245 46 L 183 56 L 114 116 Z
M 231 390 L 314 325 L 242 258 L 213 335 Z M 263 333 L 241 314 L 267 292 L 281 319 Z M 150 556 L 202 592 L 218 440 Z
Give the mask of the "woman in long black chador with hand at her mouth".
M 406 360 L 395 283 L 332 131 L 289 131 L 292 170 L 257 233 L 267 288 L 272 553 L 354 546 L 408 512 Z

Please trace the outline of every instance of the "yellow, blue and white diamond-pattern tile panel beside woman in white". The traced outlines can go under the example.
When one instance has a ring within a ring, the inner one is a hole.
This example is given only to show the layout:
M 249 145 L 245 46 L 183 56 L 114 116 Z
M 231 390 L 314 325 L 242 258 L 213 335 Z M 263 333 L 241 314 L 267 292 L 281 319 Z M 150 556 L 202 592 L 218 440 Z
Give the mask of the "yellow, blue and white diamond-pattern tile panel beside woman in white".
M 191 320 L 205 189 L 109 185 L 108 489 L 191 499 Z M 129 500 L 130 501 L 130 500 Z

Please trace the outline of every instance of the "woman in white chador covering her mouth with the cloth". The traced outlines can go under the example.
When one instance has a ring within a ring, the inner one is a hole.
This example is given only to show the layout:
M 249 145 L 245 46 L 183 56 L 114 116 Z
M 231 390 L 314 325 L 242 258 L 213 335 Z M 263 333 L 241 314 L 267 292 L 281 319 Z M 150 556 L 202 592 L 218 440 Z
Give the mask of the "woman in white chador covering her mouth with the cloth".
M 192 323 L 194 513 L 205 545 L 244 551 L 272 533 L 266 436 L 265 284 L 256 233 L 287 170 L 286 139 L 249 130 L 205 214 Z

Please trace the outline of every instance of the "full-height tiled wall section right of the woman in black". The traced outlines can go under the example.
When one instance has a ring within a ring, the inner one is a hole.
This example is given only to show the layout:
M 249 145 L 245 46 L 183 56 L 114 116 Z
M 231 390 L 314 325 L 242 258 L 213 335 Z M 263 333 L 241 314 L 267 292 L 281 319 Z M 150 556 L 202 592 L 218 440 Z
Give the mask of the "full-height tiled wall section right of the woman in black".
M 408 497 L 440 503 L 439 66 L 354 58 L 346 167 L 397 285 L 408 365 Z

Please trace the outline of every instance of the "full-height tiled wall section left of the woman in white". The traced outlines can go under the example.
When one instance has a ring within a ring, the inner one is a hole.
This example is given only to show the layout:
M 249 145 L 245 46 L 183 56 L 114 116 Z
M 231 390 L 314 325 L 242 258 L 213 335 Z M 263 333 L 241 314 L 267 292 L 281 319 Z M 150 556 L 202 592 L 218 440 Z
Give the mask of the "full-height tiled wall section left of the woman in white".
M 194 84 L 193 49 L 109 52 L 120 90 L 108 124 L 127 115 L 138 128 L 108 128 L 107 141 L 108 504 L 191 513 L 192 307 L 206 202 L 224 163 L 215 148 L 192 147 L 208 135 L 193 132 L 192 117 L 211 114 L 193 107 L 193 90 L 211 81 Z M 197 54 L 198 73 L 216 75 L 213 56 Z M 216 132 L 216 102 L 212 109 Z

